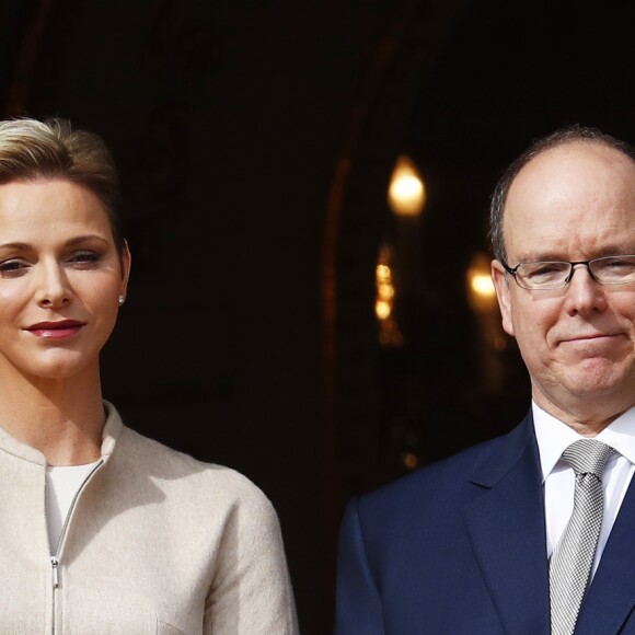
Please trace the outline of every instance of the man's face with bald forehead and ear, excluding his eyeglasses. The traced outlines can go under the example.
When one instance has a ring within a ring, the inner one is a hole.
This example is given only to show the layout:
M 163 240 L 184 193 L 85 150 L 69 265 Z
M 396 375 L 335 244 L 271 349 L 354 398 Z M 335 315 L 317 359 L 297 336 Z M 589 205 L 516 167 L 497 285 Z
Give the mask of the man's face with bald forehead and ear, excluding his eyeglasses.
M 510 267 L 635 254 L 635 165 L 584 142 L 540 154 L 511 185 L 504 239 Z M 578 266 L 564 289 L 530 291 L 492 270 L 541 407 L 585 423 L 635 403 L 635 284 L 602 286 Z

